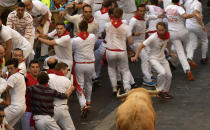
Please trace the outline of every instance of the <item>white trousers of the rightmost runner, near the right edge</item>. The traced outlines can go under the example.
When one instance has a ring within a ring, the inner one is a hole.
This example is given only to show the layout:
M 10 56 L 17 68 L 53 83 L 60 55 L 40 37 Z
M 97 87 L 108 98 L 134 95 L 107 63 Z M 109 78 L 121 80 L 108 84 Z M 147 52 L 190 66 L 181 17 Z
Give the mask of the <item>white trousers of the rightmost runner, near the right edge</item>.
M 190 45 L 186 48 L 187 58 L 193 59 L 194 51 L 198 47 L 198 42 L 201 43 L 202 58 L 206 58 L 208 52 L 208 35 L 203 31 L 200 25 L 186 25 L 189 30 Z M 199 40 L 199 41 L 198 41 Z

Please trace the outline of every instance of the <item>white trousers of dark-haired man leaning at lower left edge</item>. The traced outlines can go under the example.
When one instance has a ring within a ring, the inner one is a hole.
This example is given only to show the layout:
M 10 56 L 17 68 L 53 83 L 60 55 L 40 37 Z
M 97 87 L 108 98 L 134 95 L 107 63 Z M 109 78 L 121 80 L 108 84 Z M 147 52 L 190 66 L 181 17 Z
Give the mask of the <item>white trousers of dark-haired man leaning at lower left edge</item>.
M 26 105 L 9 105 L 4 109 L 5 119 L 11 127 L 14 127 L 15 124 L 21 119 L 25 113 Z

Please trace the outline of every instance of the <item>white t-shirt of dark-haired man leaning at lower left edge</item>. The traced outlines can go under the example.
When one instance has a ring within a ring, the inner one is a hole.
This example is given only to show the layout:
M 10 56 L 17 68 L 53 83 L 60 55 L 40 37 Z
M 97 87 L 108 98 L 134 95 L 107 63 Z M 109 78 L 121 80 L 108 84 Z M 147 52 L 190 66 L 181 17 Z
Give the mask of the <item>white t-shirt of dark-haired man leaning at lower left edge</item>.
M 7 80 L 8 86 L 11 87 L 11 105 L 25 105 L 26 84 L 25 78 L 19 72 L 11 75 Z

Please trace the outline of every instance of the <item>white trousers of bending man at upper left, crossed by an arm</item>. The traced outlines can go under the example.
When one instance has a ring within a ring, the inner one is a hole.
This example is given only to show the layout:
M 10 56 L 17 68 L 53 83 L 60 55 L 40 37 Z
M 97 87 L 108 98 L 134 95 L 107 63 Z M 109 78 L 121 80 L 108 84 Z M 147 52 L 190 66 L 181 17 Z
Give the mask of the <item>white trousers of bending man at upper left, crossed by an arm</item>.
M 46 21 L 46 23 L 43 26 L 43 33 L 44 34 L 48 34 L 49 27 L 50 27 L 50 22 Z M 41 56 L 48 55 L 48 48 L 49 48 L 48 45 L 46 45 L 44 43 L 41 43 Z

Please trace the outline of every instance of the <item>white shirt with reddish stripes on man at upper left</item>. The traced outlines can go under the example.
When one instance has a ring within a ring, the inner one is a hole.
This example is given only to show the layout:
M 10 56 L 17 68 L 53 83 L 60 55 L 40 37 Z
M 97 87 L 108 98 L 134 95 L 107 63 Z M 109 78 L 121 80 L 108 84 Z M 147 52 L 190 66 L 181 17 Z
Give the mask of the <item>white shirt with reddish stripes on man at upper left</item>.
M 29 13 L 24 12 L 23 18 L 19 19 L 17 12 L 13 11 L 7 17 L 7 26 L 16 30 L 29 40 L 32 36 L 33 18 Z

